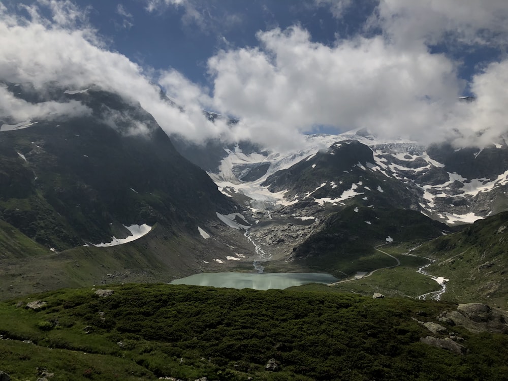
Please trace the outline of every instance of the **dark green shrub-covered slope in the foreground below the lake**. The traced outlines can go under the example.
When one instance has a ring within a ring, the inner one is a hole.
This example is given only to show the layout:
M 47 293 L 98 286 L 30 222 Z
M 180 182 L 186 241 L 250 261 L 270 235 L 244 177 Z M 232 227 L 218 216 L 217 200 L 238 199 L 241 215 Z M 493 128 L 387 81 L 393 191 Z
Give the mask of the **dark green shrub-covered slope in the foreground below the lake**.
M 508 337 L 471 334 L 465 355 L 419 342 L 453 305 L 351 294 L 126 284 L 0 303 L 0 367 L 14 380 L 508 379 Z M 22 308 L 43 300 L 41 310 Z M 31 340 L 22 343 L 19 340 Z M 53 348 L 52 350 L 48 350 Z M 86 355 L 85 355 L 86 353 Z M 265 370 L 274 358 L 277 371 Z M 488 359 L 488 362 L 486 361 Z

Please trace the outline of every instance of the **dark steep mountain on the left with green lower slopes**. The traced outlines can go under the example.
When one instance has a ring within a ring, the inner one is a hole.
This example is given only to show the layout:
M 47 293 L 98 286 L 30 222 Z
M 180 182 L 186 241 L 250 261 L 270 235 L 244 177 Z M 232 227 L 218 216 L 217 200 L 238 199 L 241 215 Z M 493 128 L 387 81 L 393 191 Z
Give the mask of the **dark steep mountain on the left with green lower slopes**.
M 29 283 L 15 275 L 22 273 L 40 289 L 120 274 L 171 279 L 250 252 L 242 233 L 218 218 L 242 208 L 139 104 L 96 86 L 4 85 L 34 105 L 79 102 L 88 112 L 22 123 L 0 117 L 0 260 L 8 264 L 0 285 Z

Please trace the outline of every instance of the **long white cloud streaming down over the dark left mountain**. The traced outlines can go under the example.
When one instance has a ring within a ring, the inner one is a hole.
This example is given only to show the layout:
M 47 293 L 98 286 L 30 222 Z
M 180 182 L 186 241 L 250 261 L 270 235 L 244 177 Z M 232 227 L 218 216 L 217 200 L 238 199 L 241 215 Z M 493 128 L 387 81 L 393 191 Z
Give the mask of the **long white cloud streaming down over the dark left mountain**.
M 60 20 L 66 12 L 70 12 L 72 19 L 75 8 L 69 7 L 67 1 L 58 4 L 47 0 L 40 2 L 40 5 L 51 7 L 55 20 Z M 199 107 L 185 105 L 181 111 L 162 100 L 160 87 L 154 84 L 160 73 L 143 70 L 124 55 L 109 51 L 86 22 L 79 27 L 74 22 L 51 22 L 40 16 L 37 7 L 29 11 L 28 19 L 7 13 L 5 9 L 0 14 L 1 79 L 31 82 L 38 89 L 55 80 L 71 89 L 96 84 L 140 102 L 169 134 L 180 133 L 200 142 L 224 133 L 220 129 L 227 128 L 225 123 L 208 121 Z M 23 49 L 19 48 L 21 46 Z M 161 76 L 166 77 L 165 73 Z M 25 120 L 42 116 L 38 107 L 26 102 L 15 103 L 6 92 L 0 92 L 0 104 L 4 110 L 12 110 L 10 114 L 14 118 Z M 68 106 L 65 110 L 70 114 L 82 111 L 79 107 Z

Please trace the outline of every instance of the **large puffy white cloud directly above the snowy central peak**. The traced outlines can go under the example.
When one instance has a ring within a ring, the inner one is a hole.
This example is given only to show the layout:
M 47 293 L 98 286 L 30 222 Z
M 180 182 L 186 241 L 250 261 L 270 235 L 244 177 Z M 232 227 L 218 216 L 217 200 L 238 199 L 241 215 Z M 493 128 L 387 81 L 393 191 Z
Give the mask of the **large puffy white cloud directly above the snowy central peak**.
M 293 27 L 259 33 L 264 49 L 210 58 L 217 108 L 265 143 L 312 125 L 418 135 L 443 126 L 461 91 L 453 62 L 424 45 L 401 52 L 382 37 L 328 47 Z

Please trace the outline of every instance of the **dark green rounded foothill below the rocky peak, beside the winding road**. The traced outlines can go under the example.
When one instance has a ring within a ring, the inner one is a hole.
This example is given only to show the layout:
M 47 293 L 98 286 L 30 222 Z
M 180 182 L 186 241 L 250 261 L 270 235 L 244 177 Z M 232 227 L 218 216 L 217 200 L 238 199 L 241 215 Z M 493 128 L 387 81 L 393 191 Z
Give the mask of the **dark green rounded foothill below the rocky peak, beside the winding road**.
M 370 224 L 368 224 L 368 221 Z M 423 214 L 403 209 L 372 209 L 351 205 L 332 215 L 324 228 L 310 236 L 293 253 L 299 264 L 337 277 L 354 275 L 396 264 L 375 246 L 394 242 L 414 243 L 437 237 L 446 226 Z

